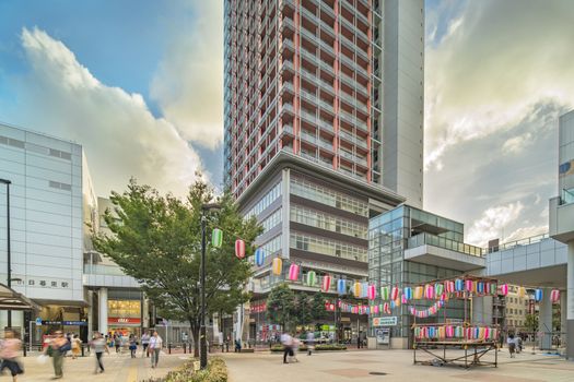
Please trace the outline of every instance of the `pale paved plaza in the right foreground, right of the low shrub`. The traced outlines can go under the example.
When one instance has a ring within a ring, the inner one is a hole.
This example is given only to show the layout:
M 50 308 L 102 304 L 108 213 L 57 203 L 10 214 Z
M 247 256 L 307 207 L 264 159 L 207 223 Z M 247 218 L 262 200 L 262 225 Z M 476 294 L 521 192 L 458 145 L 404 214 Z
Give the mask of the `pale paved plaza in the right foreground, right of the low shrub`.
M 283 365 L 280 355 L 226 354 L 231 382 L 247 381 L 573 381 L 574 362 L 558 356 L 523 353 L 511 359 L 499 353 L 499 367 L 432 367 L 412 365 L 410 350 L 365 350 L 300 355 Z M 385 373 L 374 375 L 371 373 Z

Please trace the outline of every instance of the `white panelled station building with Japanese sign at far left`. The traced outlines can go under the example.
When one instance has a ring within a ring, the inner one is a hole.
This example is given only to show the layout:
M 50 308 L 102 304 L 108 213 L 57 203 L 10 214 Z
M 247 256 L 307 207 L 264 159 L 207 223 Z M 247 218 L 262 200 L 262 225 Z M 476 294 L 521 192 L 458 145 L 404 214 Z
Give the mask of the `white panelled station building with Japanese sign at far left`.
M 42 307 L 12 312 L 12 326 L 33 324 L 33 339 L 51 326 L 86 335 L 83 258 L 90 246 L 96 198 L 82 146 L 0 124 L 0 280 L 8 284 L 7 188 L 10 187 L 12 287 Z M 8 324 L 7 312 L 0 325 Z M 36 327 L 36 329 L 34 329 Z

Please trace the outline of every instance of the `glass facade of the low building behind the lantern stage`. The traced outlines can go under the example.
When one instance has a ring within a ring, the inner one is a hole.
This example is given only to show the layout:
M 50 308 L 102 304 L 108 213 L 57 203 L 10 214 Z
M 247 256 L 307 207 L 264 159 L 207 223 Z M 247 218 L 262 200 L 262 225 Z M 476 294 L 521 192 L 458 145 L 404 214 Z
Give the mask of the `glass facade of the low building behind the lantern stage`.
M 426 243 L 422 240 L 425 237 L 433 238 L 433 243 L 434 241 L 444 243 L 441 247 L 446 248 L 450 246 L 454 250 L 457 250 L 464 237 L 464 225 L 460 223 L 402 205 L 372 218 L 368 229 L 368 279 L 371 283 L 376 284 L 377 290 L 385 285 L 403 288 L 461 274 L 461 272 L 456 270 L 405 260 L 405 250 Z M 457 240 L 460 240 L 460 242 Z M 476 251 L 480 252 L 481 250 L 477 247 L 468 247 L 468 252 L 471 252 L 468 254 L 473 254 Z M 377 301 L 377 303 L 382 302 Z M 398 325 L 391 327 L 391 336 L 410 337 L 413 318 L 408 311 L 409 306 L 417 309 L 425 309 L 431 305 L 431 301 L 413 300 L 411 305 L 402 305 L 400 308 L 395 308 L 393 315 L 397 315 Z M 382 315 L 374 314 L 373 317 Z M 464 318 L 464 301 L 450 300 L 437 315 L 417 319 L 417 322 L 433 323 L 444 322 L 446 319 L 462 320 Z M 373 332 L 372 326 L 371 331 Z M 374 335 L 374 333 L 371 333 L 371 335 Z

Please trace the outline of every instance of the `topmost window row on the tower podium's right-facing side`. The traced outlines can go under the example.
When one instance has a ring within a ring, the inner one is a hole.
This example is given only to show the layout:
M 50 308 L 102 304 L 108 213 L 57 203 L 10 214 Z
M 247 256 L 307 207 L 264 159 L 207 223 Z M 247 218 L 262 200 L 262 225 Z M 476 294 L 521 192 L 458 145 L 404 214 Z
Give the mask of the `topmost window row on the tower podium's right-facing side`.
M 291 179 L 291 193 L 336 208 L 349 211 L 356 215 L 368 216 L 367 203 L 304 179 Z

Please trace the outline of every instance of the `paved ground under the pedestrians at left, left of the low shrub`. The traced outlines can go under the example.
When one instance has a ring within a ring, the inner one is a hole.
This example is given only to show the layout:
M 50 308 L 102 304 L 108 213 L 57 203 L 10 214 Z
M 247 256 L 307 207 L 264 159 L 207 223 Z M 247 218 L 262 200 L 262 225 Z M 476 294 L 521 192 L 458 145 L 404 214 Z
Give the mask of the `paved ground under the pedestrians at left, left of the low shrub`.
M 150 358 L 141 358 L 139 353 L 138 358 L 130 358 L 129 354 L 117 355 L 112 351 L 110 355 L 104 355 L 105 373 L 94 374 L 95 357 L 80 357 L 71 359 L 67 357 L 63 365 L 63 378 L 59 381 L 69 382 L 139 382 L 147 381 L 151 378 L 159 378 L 167 374 L 169 370 L 183 365 L 188 357 L 186 355 L 167 355 L 160 356 L 160 365 L 152 369 L 150 366 Z M 54 369 L 51 362 L 44 365 L 38 363 L 37 354 L 32 354 L 30 357 L 21 358 L 24 363 L 25 374 L 19 378 L 19 382 L 25 381 L 49 381 L 54 377 Z M 5 373 L 4 375 L 8 375 Z M 8 377 L 0 378 L 0 381 L 9 381 Z

